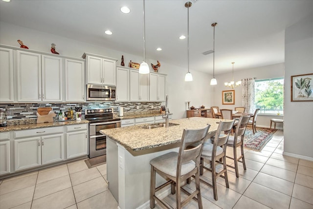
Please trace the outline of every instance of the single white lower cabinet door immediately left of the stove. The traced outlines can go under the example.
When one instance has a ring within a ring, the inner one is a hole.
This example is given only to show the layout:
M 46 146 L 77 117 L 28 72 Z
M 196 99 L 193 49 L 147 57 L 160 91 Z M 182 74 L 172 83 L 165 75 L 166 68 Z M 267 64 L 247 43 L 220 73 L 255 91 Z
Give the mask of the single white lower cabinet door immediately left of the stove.
M 87 130 L 67 133 L 67 159 L 88 154 Z

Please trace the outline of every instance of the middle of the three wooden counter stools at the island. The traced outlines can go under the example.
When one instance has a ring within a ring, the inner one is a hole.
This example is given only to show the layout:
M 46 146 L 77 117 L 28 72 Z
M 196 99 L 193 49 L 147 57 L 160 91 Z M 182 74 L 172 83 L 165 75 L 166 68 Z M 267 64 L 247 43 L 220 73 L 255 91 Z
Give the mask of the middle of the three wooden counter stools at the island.
M 228 177 L 227 177 L 227 166 L 226 166 L 226 146 L 230 131 L 234 125 L 234 120 L 229 122 L 220 121 L 217 131 L 215 133 L 214 142 L 204 142 L 203 150 L 201 154 L 200 162 L 200 175 L 203 175 L 203 169 L 209 170 L 212 173 L 212 185 L 201 178 L 201 182 L 205 185 L 213 188 L 213 196 L 215 200 L 218 200 L 217 196 L 217 185 L 216 178 L 221 176 L 225 179 L 226 188 L 229 188 Z M 220 162 L 220 159 L 223 158 L 223 162 Z M 206 167 L 204 165 L 204 159 L 211 161 L 211 167 Z M 220 172 L 216 171 L 216 163 L 223 164 L 223 170 Z M 223 176 L 224 174 L 224 176 Z

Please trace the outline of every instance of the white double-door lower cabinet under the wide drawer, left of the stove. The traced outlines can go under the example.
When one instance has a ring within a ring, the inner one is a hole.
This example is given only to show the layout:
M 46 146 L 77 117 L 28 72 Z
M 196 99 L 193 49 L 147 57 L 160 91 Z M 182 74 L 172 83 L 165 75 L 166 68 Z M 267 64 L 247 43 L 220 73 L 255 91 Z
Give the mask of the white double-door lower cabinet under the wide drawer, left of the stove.
M 63 160 L 63 133 L 14 140 L 15 171 Z

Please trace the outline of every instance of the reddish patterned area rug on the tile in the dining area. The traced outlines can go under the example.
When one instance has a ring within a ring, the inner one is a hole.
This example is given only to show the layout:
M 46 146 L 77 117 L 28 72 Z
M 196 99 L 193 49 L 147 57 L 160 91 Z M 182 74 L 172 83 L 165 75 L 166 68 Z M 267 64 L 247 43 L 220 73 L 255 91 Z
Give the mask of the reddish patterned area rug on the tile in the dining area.
M 257 127 L 257 132 L 253 134 L 252 126 L 246 127 L 244 147 L 254 151 L 261 151 L 278 129 Z

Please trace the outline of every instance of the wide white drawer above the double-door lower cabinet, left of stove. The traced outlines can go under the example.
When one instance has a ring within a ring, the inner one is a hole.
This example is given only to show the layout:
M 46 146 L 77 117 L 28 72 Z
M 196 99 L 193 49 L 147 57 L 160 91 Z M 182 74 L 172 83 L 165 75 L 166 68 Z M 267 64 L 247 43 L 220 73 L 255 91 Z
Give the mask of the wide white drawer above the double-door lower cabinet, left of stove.
M 14 138 L 17 139 L 22 137 L 41 136 L 55 133 L 63 133 L 63 126 L 14 131 Z

